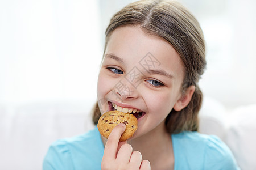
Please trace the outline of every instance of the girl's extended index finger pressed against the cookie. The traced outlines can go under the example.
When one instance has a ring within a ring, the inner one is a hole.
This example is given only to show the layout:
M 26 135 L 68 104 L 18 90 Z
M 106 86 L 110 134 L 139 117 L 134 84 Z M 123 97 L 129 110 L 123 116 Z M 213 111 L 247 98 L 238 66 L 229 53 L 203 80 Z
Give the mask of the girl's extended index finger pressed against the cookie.
M 105 145 L 103 158 L 108 158 L 108 159 L 116 158 L 118 142 L 122 133 L 125 131 L 125 128 L 126 128 L 125 124 L 118 124 L 112 130 L 112 132 L 109 135 L 108 141 L 106 142 L 106 145 Z

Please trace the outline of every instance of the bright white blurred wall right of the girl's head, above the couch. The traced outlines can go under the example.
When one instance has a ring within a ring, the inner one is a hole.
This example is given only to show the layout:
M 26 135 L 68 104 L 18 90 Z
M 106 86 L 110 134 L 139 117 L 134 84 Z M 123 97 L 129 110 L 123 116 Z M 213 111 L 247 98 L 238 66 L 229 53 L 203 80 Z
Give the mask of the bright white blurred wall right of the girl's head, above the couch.
M 256 103 L 256 2 L 182 0 L 195 14 L 207 44 L 200 86 L 228 108 Z

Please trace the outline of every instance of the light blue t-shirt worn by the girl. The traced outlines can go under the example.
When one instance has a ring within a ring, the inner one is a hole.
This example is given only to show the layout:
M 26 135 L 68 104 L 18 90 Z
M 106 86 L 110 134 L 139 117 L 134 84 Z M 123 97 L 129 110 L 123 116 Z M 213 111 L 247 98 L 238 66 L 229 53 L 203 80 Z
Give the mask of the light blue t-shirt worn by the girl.
M 172 134 L 174 170 L 240 169 L 232 152 L 214 135 L 184 131 Z M 54 142 L 43 162 L 43 170 L 101 169 L 104 145 L 96 128 L 73 138 Z

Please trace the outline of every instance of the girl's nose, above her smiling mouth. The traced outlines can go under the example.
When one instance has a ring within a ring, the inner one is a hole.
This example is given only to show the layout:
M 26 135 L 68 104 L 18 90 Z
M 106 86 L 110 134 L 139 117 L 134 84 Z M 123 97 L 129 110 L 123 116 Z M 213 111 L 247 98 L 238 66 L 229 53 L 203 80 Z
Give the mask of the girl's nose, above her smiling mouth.
M 129 80 L 121 79 L 113 88 L 113 93 L 119 100 L 137 99 L 139 92 Z

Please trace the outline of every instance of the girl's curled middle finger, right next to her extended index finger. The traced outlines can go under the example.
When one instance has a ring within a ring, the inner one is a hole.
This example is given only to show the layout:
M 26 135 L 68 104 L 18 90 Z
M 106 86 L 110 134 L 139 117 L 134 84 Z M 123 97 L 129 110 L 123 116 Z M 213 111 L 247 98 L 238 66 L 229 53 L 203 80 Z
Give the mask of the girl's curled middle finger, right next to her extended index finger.
M 126 165 L 129 163 L 131 152 L 133 152 L 133 147 L 129 144 L 124 144 L 120 148 L 120 150 L 117 153 L 117 162 Z

